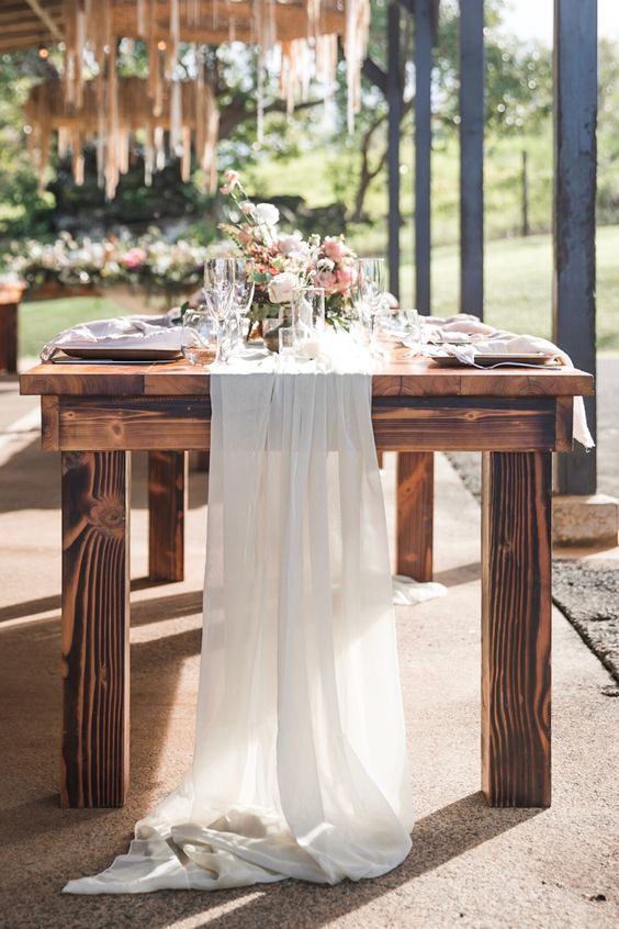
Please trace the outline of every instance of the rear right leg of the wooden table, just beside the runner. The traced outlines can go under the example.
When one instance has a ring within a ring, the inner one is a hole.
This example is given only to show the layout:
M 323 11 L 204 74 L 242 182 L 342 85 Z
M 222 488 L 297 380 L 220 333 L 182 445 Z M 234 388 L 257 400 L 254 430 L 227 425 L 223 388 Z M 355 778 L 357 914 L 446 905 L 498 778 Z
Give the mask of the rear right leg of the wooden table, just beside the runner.
M 397 456 L 397 573 L 432 580 L 435 456 L 401 451 Z

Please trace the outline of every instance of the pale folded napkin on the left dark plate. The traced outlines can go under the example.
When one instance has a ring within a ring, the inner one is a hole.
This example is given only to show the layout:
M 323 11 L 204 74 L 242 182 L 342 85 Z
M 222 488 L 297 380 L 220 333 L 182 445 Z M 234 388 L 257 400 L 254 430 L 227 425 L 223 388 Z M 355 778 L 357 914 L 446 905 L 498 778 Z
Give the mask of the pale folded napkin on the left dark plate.
M 71 348 L 181 348 L 181 328 L 173 325 L 175 311 L 164 316 L 115 316 L 79 323 L 55 336 L 43 347 L 42 361 Z

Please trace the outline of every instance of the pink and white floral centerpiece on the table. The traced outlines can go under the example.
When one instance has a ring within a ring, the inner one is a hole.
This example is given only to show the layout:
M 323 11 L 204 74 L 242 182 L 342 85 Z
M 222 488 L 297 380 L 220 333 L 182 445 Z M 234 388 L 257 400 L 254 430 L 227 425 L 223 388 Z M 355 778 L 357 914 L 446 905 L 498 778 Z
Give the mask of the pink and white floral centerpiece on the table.
M 243 257 L 254 264 L 256 288 L 250 318 L 285 316 L 297 287 L 319 287 L 325 291 L 327 322 L 345 325 L 357 257 L 345 237 L 311 235 L 304 239 L 300 232 L 281 232 L 279 210 L 271 203 L 254 203 L 237 171 L 226 171 L 221 190 L 232 198 L 238 213 L 236 222 L 221 227 Z

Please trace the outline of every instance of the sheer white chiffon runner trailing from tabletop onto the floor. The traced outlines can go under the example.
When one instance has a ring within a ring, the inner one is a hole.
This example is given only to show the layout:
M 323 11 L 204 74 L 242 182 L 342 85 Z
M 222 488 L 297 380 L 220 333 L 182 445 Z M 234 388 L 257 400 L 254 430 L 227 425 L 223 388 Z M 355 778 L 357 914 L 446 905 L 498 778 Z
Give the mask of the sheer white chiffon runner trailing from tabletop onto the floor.
M 361 368 L 327 350 L 212 373 L 193 763 L 128 853 L 66 892 L 334 884 L 407 855 L 392 580 Z

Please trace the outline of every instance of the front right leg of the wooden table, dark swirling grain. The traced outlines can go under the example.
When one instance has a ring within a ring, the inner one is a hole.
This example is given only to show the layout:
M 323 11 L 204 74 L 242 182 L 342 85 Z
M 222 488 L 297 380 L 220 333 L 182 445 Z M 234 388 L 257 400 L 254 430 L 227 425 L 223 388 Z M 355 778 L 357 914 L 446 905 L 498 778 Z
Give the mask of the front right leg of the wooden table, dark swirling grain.
M 550 806 L 551 456 L 486 452 L 482 516 L 482 788 Z

